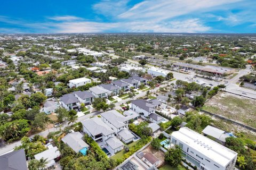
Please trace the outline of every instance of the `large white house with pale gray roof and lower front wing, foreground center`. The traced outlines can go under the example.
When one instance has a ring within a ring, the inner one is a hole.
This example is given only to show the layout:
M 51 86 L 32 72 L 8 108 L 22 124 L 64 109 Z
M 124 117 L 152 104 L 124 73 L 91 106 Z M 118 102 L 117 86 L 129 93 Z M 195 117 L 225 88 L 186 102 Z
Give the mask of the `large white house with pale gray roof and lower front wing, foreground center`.
M 88 134 L 94 141 L 103 142 L 105 148 L 111 153 L 122 150 L 124 144 L 115 137 L 115 131 L 105 124 L 101 118 L 92 117 L 81 122 L 83 132 Z

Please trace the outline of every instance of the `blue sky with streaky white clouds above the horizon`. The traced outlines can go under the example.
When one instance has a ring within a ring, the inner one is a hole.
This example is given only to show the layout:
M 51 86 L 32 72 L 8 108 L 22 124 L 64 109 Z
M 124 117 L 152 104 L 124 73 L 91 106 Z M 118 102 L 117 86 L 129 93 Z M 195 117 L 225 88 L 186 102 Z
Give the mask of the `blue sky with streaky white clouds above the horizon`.
M 255 0 L 9 0 L 2 33 L 256 33 Z

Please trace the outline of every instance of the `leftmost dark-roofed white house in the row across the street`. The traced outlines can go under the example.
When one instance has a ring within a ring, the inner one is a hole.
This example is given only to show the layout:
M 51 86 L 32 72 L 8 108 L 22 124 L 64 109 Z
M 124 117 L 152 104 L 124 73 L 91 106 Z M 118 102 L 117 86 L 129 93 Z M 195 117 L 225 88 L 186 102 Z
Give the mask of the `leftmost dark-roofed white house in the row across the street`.
M 60 103 L 68 111 L 78 109 L 81 106 L 79 100 L 73 94 L 66 94 L 60 97 Z

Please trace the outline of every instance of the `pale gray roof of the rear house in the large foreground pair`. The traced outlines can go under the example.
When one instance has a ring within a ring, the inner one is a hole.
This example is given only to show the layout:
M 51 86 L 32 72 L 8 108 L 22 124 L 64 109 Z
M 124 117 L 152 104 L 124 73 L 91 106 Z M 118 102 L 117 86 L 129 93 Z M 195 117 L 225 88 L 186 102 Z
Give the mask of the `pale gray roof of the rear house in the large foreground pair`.
M 116 128 L 121 128 L 126 125 L 124 123 L 127 121 L 126 117 L 124 117 L 116 110 L 107 111 L 101 113 L 100 115 L 104 117 L 107 121 L 109 121 L 111 124 L 113 124 Z

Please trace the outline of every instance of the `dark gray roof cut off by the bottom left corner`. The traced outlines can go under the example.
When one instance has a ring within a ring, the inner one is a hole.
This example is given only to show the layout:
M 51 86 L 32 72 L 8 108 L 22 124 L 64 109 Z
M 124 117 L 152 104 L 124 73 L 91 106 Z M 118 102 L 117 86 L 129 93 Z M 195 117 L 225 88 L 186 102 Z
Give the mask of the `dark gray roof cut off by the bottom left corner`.
M 1 170 L 27 170 L 26 155 L 24 149 L 12 151 L 0 156 Z

